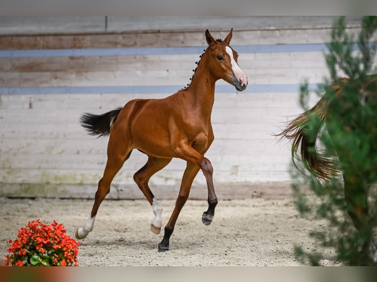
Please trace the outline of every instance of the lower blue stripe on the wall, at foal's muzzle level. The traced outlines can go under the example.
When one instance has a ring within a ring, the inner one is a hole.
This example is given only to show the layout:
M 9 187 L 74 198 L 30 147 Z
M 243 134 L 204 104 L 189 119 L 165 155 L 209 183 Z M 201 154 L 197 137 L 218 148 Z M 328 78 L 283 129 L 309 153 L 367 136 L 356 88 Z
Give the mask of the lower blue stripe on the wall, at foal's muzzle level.
M 0 95 L 27 95 L 27 94 L 173 94 L 180 90 L 182 86 L 63 86 L 63 87 L 0 87 Z M 298 84 L 283 85 L 248 85 L 246 93 L 257 92 L 299 92 Z M 316 89 L 316 85 L 309 85 L 311 90 Z M 237 90 L 232 85 L 216 85 L 217 93 L 235 93 Z

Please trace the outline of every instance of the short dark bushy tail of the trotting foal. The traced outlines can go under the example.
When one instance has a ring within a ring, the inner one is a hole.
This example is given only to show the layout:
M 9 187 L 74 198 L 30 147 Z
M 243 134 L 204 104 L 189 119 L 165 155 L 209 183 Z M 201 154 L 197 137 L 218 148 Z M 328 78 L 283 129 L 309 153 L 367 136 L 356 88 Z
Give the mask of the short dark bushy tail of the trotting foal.
M 107 136 L 110 134 L 111 127 L 117 119 L 122 107 L 103 114 L 84 113 L 80 117 L 81 125 L 90 135 Z

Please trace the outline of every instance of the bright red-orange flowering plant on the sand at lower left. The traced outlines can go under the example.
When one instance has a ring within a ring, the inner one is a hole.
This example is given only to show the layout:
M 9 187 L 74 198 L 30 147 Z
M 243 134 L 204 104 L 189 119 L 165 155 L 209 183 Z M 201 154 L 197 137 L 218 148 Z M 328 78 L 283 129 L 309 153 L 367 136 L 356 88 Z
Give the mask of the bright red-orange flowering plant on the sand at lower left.
M 5 255 L 4 265 L 13 266 L 78 266 L 77 253 L 80 242 L 65 234 L 64 226 L 54 221 L 42 224 L 39 219 L 28 223 L 29 228 L 18 230 L 18 239 Z

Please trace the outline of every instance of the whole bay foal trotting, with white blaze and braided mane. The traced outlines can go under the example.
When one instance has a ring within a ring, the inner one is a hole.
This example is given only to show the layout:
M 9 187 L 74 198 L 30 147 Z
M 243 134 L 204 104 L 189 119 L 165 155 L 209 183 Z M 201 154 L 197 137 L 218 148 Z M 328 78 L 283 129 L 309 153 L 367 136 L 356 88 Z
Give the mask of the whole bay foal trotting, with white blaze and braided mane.
M 248 79 L 237 63 L 238 54 L 229 46 L 233 28 L 224 40 L 215 40 L 208 29 L 205 38 L 208 47 L 201 56 L 188 87 L 162 99 L 134 99 L 123 108 L 95 115 L 84 113 L 82 126 L 92 135 L 107 136 L 107 163 L 103 177 L 98 182 L 92 212 L 76 238 L 83 239 L 93 230 L 98 207 L 110 192 L 110 184 L 137 149 L 148 156 L 147 163 L 133 176 L 137 186 L 152 206 L 155 217 L 151 230 L 159 234 L 162 221 L 162 206 L 151 192 L 148 181 L 153 174 L 163 169 L 172 158 L 187 162 L 174 210 L 164 229 L 158 251 L 169 250 L 169 240 L 179 213 L 186 203 L 192 181 L 201 169 L 207 182 L 208 209 L 202 214 L 204 225 L 210 225 L 218 203 L 213 184 L 213 167 L 204 157 L 214 133 L 211 113 L 215 99 L 215 83 L 222 79 L 243 91 Z

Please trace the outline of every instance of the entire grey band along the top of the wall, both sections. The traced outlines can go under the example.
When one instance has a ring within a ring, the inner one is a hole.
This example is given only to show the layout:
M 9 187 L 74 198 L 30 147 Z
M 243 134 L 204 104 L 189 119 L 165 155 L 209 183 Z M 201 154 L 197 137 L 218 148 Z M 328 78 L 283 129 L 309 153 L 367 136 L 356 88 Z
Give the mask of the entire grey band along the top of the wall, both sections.
M 0 35 L 331 28 L 334 16 L 0 16 Z M 349 27 L 361 17 L 348 16 Z

